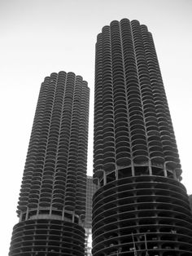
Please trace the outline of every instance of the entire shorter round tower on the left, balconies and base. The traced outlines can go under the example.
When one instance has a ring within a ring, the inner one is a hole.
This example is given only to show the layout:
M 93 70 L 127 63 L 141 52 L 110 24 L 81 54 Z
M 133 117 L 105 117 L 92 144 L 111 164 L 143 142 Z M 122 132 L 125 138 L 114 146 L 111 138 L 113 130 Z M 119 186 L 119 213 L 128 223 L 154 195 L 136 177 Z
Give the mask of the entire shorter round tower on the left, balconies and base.
M 89 88 L 74 73 L 41 84 L 11 256 L 84 255 Z

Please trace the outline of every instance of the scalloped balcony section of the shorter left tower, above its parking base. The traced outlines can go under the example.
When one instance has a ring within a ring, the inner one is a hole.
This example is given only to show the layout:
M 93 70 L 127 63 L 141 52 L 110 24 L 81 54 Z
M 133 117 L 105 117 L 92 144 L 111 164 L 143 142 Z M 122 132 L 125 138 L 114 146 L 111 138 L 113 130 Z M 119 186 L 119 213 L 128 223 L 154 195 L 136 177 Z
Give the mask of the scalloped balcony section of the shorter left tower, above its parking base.
M 74 73 L 52 73 L 41 85 L 28 146 L 18 214 L 27 220 L 85 215 L 89 88 Z

